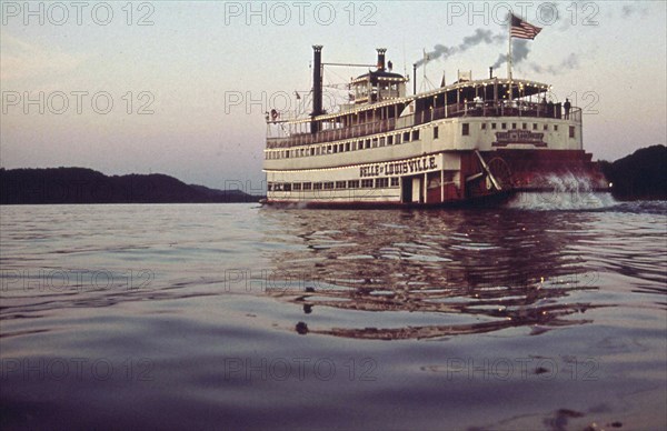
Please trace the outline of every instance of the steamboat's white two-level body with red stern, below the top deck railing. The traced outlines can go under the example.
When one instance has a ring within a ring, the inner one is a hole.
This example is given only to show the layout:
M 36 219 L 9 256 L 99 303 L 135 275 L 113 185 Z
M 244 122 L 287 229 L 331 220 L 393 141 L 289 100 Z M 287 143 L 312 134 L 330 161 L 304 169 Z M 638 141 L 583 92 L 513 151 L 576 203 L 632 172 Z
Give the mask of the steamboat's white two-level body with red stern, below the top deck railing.
M 495 203 L 515 190 L 544 188 L 540 178 L 550 172 L 597 176 L 581 150 L 580 122 L 544 118 L 447 119 L 267 150 L 266 167 L 267 203 L 308 207 Z

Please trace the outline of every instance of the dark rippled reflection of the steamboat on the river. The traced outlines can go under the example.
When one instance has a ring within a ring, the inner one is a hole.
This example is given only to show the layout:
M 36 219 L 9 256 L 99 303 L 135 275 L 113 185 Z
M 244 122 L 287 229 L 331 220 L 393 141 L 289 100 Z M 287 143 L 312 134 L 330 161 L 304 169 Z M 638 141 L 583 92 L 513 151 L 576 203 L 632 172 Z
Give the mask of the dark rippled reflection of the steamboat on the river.
M 573 297 L 596 290 L 595 274 L 568 245 L 586 234 L 581 219 L 590 214 L 577 213 L 576 221 L 571 213 L 521 211 L 289 216 L 306 247 L 273 257 L 268 292 L 302 308 L 299 333 L 417 339 L 588 322 L 577 315 L 591 305 Z M 322 321 L 322 311 L 335 318 Z

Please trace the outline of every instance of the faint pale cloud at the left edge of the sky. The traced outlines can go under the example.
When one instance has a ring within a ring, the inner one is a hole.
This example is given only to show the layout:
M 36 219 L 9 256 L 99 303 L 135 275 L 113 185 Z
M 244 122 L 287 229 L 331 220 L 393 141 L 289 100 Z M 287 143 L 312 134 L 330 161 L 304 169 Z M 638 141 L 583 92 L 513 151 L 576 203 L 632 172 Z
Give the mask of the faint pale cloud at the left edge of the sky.
M 78 68 L 83 61 L 82 56 L 64 52 L 54 47 L 41 47 L 4 32 L 0 49 L 2 51 L 0 80 L 2 81 L 66 73 Z

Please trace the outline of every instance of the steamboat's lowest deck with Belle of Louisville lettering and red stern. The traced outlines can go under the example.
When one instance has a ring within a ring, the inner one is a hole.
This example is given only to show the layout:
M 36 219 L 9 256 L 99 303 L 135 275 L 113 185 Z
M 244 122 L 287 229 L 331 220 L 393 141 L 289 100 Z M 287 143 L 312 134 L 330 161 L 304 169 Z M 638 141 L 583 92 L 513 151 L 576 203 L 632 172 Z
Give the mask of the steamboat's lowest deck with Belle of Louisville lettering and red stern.
M 605 187 L 581 150 L 441 151 L 417 158 L 329 169 L 268 171 L 268 203 L 435 206 L 488 200 L 512 190 L 544 189 L 569 172 Z

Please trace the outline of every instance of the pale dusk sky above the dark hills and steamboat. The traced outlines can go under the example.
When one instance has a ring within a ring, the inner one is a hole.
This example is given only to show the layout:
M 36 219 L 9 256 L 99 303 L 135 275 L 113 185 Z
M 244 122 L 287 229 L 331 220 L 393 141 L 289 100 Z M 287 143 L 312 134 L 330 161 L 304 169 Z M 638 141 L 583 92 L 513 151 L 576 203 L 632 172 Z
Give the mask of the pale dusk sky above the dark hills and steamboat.
M 259 193 L 263 112 L 286 94 L 297 108 L 295 91 L 308 99 L 312 44 L 325 62 L 368 64 L 387 48 L 411 79 L 424 51 L 449 52 L 427 63 L 428 81 L 485 78 L 507 52 L 507 7 L 544 27 L 527 50 L 515 44 L 525 58 L 514 76 L 584 108 L 585 149 L 615 160 L 666 143 L 666 4 L 3 1 L 0 164 L 161 172 Z M 325 83 L 364 72 L 326 68 Z

